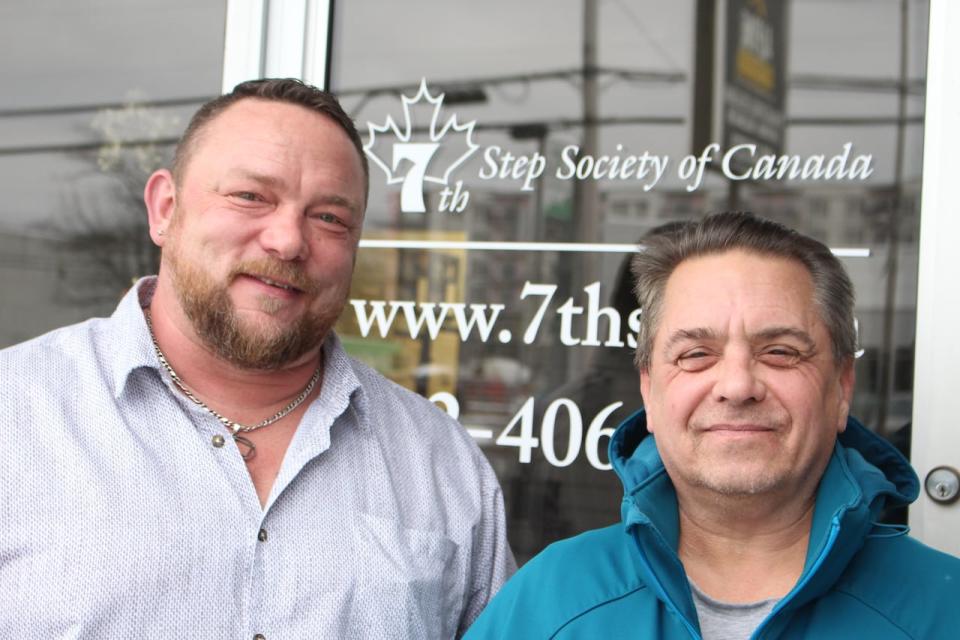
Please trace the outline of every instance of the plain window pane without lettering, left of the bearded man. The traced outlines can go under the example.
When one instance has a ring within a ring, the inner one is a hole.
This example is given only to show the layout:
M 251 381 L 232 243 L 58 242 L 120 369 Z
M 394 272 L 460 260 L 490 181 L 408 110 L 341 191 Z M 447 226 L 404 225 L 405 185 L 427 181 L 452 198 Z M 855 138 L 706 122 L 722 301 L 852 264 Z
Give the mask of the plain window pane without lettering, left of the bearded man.
M 0 347 L 112 312 L 156 272 L 142 190 L 217 95 L 225 3 L 0 7 Z

